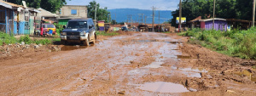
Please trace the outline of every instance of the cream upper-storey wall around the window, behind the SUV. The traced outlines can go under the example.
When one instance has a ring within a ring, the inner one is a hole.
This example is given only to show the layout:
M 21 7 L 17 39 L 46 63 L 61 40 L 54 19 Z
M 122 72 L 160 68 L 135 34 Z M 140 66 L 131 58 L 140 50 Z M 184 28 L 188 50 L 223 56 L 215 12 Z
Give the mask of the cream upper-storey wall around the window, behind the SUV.
M 77 10 L 77 14 L 72 14 L 72 9 Z M 61 18 L 87 18 L 87 12 L 87 6 L 65 5 L 60 11 L 57 11 L 56 14 L 61 16 Z

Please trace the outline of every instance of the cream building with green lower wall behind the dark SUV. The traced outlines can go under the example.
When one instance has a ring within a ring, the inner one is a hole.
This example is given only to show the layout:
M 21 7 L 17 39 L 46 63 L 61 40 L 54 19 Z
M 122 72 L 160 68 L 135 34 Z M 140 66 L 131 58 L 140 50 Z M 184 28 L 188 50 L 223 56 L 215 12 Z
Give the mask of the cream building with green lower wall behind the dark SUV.
M 60 25 L 67 25 L 67 21 L 75 18 L 87 18 L 87 6 L 64 5 L 56 12 L 60 17 L 57 19 Z

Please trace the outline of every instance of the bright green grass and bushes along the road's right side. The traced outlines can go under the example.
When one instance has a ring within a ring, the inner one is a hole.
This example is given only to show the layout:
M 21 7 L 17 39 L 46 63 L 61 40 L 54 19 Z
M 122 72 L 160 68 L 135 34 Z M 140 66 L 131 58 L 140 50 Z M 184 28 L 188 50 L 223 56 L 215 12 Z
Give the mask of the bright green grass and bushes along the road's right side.
M 256 27 L 247 31 L 201 31 L 193 29 L 179 35 L 192 37 L 189 42 L 201 44 L 221 54 L 241 59 L 256 59 Z

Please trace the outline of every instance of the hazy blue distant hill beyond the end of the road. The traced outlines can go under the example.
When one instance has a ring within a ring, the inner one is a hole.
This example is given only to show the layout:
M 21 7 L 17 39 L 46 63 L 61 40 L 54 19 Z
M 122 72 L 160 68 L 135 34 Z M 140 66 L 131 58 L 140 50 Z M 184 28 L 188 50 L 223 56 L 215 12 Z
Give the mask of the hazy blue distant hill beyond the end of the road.
M 143 23 L 145 16 L 147 16 L 146 21 L 147 23 L 151 24 L 152 23 L 152 14 L 153 10 L 144 10 L 144 9 L 137 9 L 137 8 L 116 8 L 116 9 L 108 9 L 108 11 L 111 13 L 111 19 L 115 20 L 115 14 L 116 14 L 116 20 L 117 22 L 126 22 L 128 15 L 132 15 L 132 20 L 139 21 L 140 23 L 142 22 L 142 15 L 143 14 Z M 171 20 L 172 19 L 172 14 L 171 10 L 160 10 L 160 24 Z M 154 23 L 158 24 L 159 23 L 159 10 L 155 11 L 154 15 Z M 129 22 L 131 21 L 131 18 L 129 19 Z

